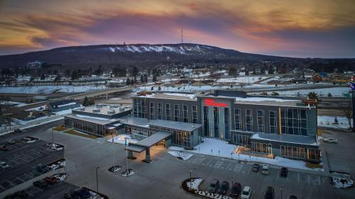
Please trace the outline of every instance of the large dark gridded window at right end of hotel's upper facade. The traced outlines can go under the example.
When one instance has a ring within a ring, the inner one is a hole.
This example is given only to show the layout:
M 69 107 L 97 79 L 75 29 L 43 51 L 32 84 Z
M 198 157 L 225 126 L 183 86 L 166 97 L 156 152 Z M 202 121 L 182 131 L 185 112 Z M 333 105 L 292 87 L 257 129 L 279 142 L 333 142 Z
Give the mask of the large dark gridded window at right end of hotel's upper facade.
M 281 130 L 284 134 L 307 136 L 306 110 L 283 108 L 281 110 Z

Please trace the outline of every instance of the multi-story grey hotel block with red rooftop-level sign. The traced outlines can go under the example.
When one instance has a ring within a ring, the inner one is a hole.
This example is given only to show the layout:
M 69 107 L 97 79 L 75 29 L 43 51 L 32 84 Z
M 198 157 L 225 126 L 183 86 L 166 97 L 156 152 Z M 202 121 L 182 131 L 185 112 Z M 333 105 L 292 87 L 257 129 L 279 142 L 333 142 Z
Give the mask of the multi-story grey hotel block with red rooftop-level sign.
M 320 160 L 317 108 L 299 100 L 248 97 L 243 91 L 140 93 L 132 98 L 135 118 L 202 124 L 200 137 L 247 145 L 263 154 Z

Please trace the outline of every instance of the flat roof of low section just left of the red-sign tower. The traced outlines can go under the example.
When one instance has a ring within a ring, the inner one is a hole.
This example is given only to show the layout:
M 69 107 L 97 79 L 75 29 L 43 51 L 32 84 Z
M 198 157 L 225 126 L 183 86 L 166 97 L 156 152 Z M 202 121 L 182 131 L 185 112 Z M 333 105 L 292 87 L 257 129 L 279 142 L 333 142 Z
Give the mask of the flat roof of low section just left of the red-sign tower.
M 199 127 L 202 127 L 202 125 L 200 124 L 181 123 L 181 122 L 175 122 L 170 120 L 151 120 L 149 125 L 165 127 L 165 128 L 175 129 L 175 130 L 188 131 L 188 132 L 192 132 L 194 130 L 197 130 Z

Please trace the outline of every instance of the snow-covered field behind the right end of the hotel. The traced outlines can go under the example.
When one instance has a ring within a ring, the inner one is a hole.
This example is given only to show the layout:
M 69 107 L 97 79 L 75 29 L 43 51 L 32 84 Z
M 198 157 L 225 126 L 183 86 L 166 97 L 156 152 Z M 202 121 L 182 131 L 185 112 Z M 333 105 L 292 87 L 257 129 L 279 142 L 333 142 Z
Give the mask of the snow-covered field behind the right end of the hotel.
M 327 89 L 302 89 L 295 91 L 277 91 L 281 96 L 307 96 L 310 92 L 315 92 L 318 96 L 328 96 L 328 93 L 331 93 L 333 97 L 342 97 L 344 93 L 349 93 L 349 87 L 335 87 Z

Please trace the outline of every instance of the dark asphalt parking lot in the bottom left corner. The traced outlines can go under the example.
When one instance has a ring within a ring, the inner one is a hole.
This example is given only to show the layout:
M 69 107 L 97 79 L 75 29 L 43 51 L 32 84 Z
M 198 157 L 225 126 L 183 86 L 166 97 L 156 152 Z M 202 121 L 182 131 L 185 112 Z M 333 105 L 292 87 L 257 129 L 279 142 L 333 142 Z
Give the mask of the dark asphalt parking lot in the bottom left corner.
M 0 193 L 13 186 L 30 180 L 41 173 L 35 170 L 38 164 L 48 164 L 64 157 L 64 150 L 50 149 L 43 140 L 26 143 L 19 137 L 13 139 L 15 143 L 6 141 L 13 139 L 11 136 L 1 137 L 0 145 L 6 145 L 6 151 L 0 151 L 0 161 L 9 165 L 7 169 L 0 169 Z

